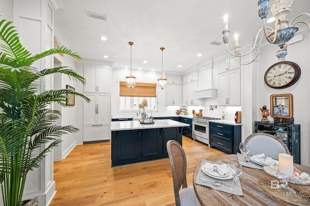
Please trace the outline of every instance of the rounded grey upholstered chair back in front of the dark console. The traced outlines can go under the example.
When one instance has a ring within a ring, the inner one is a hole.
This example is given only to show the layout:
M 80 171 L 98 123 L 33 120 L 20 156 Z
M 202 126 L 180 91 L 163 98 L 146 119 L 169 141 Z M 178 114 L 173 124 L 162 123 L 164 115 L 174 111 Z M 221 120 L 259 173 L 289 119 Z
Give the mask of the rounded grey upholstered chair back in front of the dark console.
M 253 133 L 248 136 L 245 144 L 250 145 L 248 155 L 265 154 L 265 157 L 271 157 L 279 160 L 280 153 L 291 154 L 290 150 L 279 138 L 268 133 Z

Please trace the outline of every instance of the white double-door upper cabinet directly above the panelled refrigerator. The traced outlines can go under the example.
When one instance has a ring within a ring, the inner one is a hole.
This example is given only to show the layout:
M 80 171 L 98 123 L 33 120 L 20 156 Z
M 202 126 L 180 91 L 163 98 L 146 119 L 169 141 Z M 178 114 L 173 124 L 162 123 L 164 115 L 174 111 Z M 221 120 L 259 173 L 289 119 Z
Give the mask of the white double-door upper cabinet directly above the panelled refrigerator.
M 86 85 L 84 92 L 108 92 L 110 90 L 110 68 L 97 65 L 84 65 Z

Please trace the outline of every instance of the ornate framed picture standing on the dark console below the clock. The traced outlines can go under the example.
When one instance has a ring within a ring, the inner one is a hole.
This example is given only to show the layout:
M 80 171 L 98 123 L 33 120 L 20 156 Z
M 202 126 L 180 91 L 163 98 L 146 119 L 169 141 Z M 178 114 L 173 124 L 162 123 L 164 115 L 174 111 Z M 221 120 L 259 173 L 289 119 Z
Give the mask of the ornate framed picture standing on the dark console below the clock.
M 293 118 L 293 95 L 273 94 L 270 96 L 271 117 Z

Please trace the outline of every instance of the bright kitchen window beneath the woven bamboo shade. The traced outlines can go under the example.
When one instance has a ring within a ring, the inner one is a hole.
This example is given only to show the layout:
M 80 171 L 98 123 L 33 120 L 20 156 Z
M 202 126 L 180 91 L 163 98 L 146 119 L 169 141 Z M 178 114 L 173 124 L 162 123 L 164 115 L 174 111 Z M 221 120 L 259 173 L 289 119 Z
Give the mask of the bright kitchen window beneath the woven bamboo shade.
M 156 97 L 120 97 L 120 110 L 139 110 L 139 104 L 142 100 L 147 100 L 146 110 L 157 110 L 157 98 Z

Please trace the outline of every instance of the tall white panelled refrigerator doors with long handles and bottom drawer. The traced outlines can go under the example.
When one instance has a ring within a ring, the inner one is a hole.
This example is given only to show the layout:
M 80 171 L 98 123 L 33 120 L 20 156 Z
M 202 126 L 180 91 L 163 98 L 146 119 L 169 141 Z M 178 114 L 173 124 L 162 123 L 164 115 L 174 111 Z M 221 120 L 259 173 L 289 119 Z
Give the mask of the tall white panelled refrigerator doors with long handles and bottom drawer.
M 84 94 L 83 142 L 110 140 L 110 94 Z

